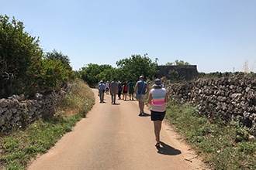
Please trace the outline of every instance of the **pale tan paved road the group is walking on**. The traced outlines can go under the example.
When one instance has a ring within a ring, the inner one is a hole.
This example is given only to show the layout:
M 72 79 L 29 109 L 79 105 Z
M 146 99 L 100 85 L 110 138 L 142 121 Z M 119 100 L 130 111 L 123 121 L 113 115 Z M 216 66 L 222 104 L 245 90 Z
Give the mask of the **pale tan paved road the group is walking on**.
M 99 104 L 97 91 L 93 91 L 96 104 L 88 116 L 47 154 L 36 158 L 29 170 L 206 169 L 166 124 L 161 131 L 162 148 L 155 148 L 153 123 L 149 115 L 138 116 L 137 101 L 117 100 L 112 105 L 106 95 L 106 103 Z

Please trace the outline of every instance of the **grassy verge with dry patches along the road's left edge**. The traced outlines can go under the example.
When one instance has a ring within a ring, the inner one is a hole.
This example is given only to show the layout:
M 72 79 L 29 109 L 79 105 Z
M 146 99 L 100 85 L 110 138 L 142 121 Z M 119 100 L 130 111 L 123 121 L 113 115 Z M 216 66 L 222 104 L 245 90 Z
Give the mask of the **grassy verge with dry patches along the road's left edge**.
M 57 113 L 41 117 L 26 130 L 16 130 L 0 138 L 0 169 L 25 169 L 31 158 L 46 153 L 95 104 L 92 90 L 77 81 L 61 101 Z

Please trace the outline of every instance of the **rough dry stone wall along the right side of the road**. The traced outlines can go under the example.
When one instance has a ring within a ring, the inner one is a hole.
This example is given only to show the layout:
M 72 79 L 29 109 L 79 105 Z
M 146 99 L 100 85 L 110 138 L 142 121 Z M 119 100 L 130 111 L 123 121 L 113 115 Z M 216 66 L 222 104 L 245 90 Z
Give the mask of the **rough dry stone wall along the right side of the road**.
M 169 99 L 189 103 L 200 114 L 226 121 L 238 119 L 256 136 L 256 78 L 199 79 L 190 83 L 165 82 Z

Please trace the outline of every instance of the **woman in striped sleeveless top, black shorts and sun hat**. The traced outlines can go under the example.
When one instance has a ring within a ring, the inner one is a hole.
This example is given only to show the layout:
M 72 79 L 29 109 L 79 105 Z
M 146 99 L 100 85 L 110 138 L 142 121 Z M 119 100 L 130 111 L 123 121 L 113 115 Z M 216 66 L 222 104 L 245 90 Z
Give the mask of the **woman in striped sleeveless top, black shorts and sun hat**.
M 160 147 L 161 124 L 166 112 L 165 103 L 168 102 L 167 91 L 162 87 L 160 79 L 154 80 L 147 102 L 150 104 L 150 117 L 151 121 L 154 122 L 154 135 L 157 141 L 155 146 L 158 148 Z

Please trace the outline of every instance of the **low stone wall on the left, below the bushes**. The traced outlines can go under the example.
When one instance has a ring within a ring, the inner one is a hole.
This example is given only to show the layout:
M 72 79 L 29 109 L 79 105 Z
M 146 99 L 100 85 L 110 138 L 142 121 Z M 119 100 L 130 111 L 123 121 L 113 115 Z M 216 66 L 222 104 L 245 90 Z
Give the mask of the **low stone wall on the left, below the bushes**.
M 75 85 L 68 84 L 59 93 L 36 93 L 29 100 L 24 95 L 0 99 L 0 133 L 9 134 L 13 129 L 26 128 L 39 117 L 54 114 L 61 98 Z

